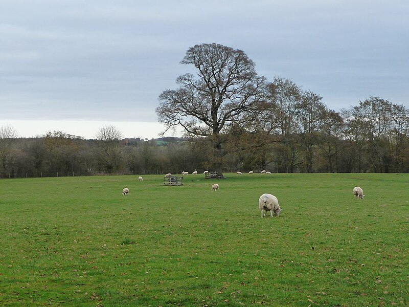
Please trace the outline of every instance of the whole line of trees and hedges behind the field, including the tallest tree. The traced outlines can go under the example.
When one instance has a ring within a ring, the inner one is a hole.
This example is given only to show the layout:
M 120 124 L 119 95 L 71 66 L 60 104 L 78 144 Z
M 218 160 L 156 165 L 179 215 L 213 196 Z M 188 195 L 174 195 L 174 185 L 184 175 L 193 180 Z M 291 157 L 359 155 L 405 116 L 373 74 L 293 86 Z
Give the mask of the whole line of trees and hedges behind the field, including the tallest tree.
M 408 172 L 409 111 L 368 97 L 339 112 L 291 79 L 259 76 L 241 50 L 195 45 L 156 108 L 184 139 L 124 139 L 115 126 L 94 140 L 64 131 L 21 139 L 0 127 L 0 177 L 161 174 L 182 171 Z

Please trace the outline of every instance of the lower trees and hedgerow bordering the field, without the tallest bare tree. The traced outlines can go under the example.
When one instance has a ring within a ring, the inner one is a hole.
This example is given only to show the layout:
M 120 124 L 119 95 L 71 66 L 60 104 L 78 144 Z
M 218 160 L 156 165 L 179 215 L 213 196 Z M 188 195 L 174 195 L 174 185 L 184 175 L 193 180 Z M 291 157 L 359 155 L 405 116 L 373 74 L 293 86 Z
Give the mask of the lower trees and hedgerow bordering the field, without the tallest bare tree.
M 225 172 L 409 172 L 404 106 L 370 97 L 335 112 L 319 96 L 305 99 L 312 94 L 290 80 L 274 84 L 280 103 L 267 103 L 247 115 L 252 120 L 243 118 L 220 134 L 221 156 L 211 136 L 128 139 L 115 126 L 104 126 L 92 140 L 63 131 L 17 138 L 3 126 L 0 177 L 202 172 L 215 164 Z

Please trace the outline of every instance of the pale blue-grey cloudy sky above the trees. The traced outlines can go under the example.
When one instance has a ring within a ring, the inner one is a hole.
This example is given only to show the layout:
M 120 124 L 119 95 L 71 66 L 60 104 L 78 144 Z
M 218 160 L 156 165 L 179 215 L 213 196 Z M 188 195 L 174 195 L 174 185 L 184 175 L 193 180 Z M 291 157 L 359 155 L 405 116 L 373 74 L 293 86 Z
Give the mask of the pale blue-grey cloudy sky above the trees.
M 370 96 L 409 107 L 407 16 L 407 0 L 0 0 L 0 126 L 156 138 L 158 96 L 212 42 L 335 111 Z

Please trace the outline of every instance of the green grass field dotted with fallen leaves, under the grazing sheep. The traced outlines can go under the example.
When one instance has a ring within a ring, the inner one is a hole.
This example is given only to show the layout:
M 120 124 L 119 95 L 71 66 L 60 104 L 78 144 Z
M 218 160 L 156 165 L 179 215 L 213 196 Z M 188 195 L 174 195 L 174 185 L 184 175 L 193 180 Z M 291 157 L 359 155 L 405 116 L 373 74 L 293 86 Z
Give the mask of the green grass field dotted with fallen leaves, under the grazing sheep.
M 408 174 L 225 176 L 0 181 L 0 305 L 409 305 Z

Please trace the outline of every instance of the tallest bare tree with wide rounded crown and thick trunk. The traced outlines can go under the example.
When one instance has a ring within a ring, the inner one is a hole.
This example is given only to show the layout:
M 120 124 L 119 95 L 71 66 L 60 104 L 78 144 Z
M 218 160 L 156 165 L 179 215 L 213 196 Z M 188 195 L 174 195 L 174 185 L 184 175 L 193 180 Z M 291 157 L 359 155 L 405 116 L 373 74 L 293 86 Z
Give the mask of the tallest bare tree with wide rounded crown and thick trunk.
M 162 92 L 158 120 L 166 130 L 182 127 L 188 136 L 209 137 L 214 167 L 221 171 L 223 133 L 265 99 L 265 78 L 257 75 L 255 63 L 243 51 L 217 43 L 189 48 L 180 63 L 194 65 L 196 75 L 181 75 L 177 90 Z

